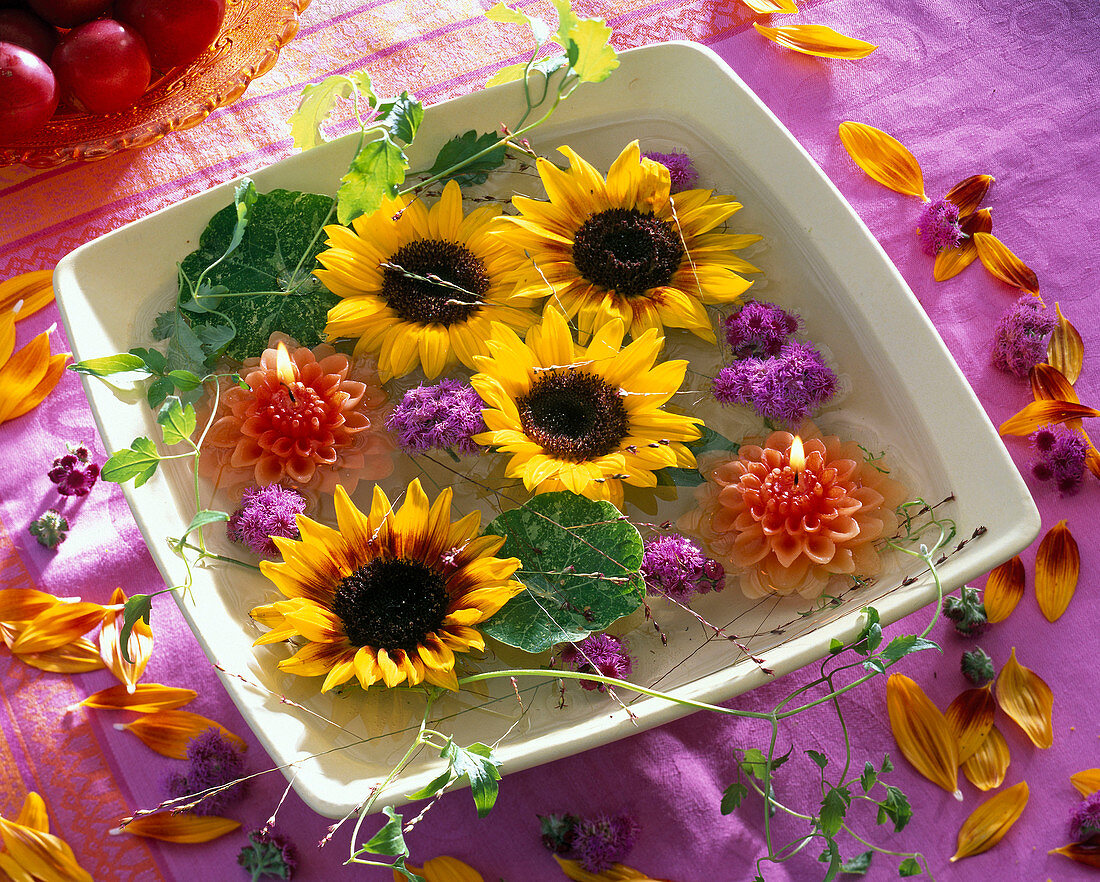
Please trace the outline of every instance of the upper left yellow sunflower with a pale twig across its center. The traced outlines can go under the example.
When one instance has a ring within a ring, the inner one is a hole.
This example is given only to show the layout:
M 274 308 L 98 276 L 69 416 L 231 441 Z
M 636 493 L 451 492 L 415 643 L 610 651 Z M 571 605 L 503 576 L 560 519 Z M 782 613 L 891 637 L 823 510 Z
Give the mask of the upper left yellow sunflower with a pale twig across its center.
M 502 284 L 515 258 L 490 234 L 499 214 L 483 206 L 463 216 L 452 180 L 430 209 L 387 198 L 352 229 L 326 227 L 315 275 L 342 298 L 326 337 L 358 338 L 355 355 L 372 355 L 383 382 L 417 366 L 429 379 L 458 362 L 473 367 L 493 322 L 522 331 L 536 319 L 529 299 L 509 299 Z

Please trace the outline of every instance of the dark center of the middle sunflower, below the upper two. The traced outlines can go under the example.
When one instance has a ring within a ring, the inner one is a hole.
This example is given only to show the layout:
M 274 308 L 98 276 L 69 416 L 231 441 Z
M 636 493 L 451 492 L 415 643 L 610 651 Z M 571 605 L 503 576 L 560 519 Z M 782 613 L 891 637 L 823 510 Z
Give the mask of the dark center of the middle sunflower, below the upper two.
M 527 437 L 560 460 L 605 456 L 627 436 L 618 389 L 587 371 L 543 374 L 516 406 Z

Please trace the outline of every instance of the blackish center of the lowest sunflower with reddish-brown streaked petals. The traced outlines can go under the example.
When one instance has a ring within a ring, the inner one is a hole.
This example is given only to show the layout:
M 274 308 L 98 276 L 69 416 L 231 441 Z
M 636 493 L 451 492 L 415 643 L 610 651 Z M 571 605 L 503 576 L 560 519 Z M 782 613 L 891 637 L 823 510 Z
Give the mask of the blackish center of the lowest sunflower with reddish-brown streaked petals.
M 411 651 L 443 622 L 443 576 L 419 561 L 376 558 L 340 582 L 332 611 L 358 647 Z

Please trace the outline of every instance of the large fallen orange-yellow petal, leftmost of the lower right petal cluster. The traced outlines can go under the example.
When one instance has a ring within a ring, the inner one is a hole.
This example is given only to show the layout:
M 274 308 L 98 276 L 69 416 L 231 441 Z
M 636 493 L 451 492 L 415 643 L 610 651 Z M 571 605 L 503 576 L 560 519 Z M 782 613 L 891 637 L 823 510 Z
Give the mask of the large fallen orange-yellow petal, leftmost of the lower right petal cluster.
M 891 674 L 887 710 L 902 756 L 933 784 L 961 798 L 958 739 L 924 690 L 904 674 Z

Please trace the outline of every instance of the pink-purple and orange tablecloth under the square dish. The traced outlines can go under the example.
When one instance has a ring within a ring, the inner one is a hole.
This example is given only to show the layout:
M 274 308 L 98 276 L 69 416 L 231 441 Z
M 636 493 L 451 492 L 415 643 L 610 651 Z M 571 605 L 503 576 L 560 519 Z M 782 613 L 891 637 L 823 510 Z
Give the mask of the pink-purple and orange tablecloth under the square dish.
M 997 184 L 988 203 L 994 210 L 994 231 L 1038 273 L 1046 300 L 1059 301 L 1082 332 L 1086 366 L 1077 389 L 1085 403 L 1100 401 L 1094 360 L 1100 326 L 1093 306 L 1100 284 L 1094 244 L 1100 238 L 1100 173 L 1094 166 L 1100 155 L 1100 14 L 1093 4 L 937 0 L 869 7 L 817 0 L 788 20 L 829 24 L 880 44 L 859 63 L 778 48 L 752 30 L 751 13 L 735 2 L 634 0 L 614 9 L 593 3 L 580 8 L 606 16 L 620 48 L 688 38 L 716 49 L 851 201 L 924 305 L 990 419 L 1000 423 L 1028 400 L 1024 382 L 989 363 L 992 324 L 1013 293 L 979 266 L 946 284 L 933 283 L 931 261 L 912 233 L 915 202 L 864 176 L 840 146 L 837 124 L 855 119 L 892 132 L 920 158 L 933 195 L 967 175 L 993 174 Z M 491 29 L 479 14 L 475 3 L 315 0 L 276 68 L 206 124 L 90 166 L 0 169 L 0 278 L 51 267 L 98 234 L 285 156 L 290 145 L 284 120 L 300 87 L 332 70 L 365 65 L 383 90 L 407 85 L 426 101 L 479 87 L 518 51 L 517 45 L 487 38 Z M 22 322 L 20 343 L 56 320 L 51 308 Z M 58 331 L 58 345 L 63 338 Z M 37 410 L 0 427 L 0 587 L 33 584 L 97 600 L 106 600 L 117 585 L 128 593 L 155 589 L 160 576 L 113 487 L 101 485 L 78 506 L 69 504 L 70 511 L 78 509 L 78 526 L 59 553 L 38 548 L 28 536 L 28 522 L 55 498 L 44 475 L 47 463 L 65 441 L 78 440 L 97 443 L 73 375 Z M 1008 446 L 1026 472 L 1024 443 L 1010 440 Z M 98 446 L 97 456 L 102 457 Z M 857 813 L 857 828 L 886 848 L 923 851 L 941 880 L 1072 880 L 1090 872 L 1046 852 L 1067 841 L 1067 816 L 1077 801 L 1068 776 L 1100 765 L 1092 655 L 1100 614 L 1093 591 L 1100 487 L 1089 477 L 1079 494 L 1064 498 L 1028 481 L 1043 530 L 1068 521 L 1081 548 L 1082 577 L 1078 596 L 1057 624 L 1040 615 L 1030 587 L 1012 618 L 981 640 L 998 664 L 1016 647 L 1055 696 L 1053 748 L 1037 750 L 1011 724 L 1003 727 L 1013 758 L 1007 783 L 1026 780 L 1032 794 L 1008 838 L 987 855 L 948 864 L 956 831 L 978 803 L 978 792 L 963 783 L 966 802 L 956 803 L 900 760 L 886 721 L 883 682 L 846 699 L 856 761 L 880 760 L 886 751 L 894 756 L 894 781 L 914 808 L 912 823 L 900 836 L 884 835 L 867 813 Z M 1034 549 L 1023 556 L 1033 573 Z M 243 721 L 174 605 L 162 598 L 154 616 L 158 649 L 147 679 L 197 688 L 194 709 L 244 734 Z M 925 614 L 914 618 L 891 630 L 916 630 Z M 943 707 L 965 686 L 958 657 L 971 641 L 943 627 L 934 637 L 944 647 L 943 655 L 924 653 L 902 670 Z M 105 717 L 66 712 L 82 695 L 109 685 L 109 674 L 41 675 L 2 652 L 0 673 L 0 814 L 18 811 L 28 790 L 42 792 L 55 831 L 68 839 L 97 880 L 243 878 L 234 866 L 239 836 L 206 846 L 166 846 L 107 835 L 130 809 L 155 804 L 161 779 L 177 768 L 113 730 Z M 744 697 L 740 705 L 769 707 L 798 682 L 798 675 L 787 677 Z M 826 712 L 784 729 L 781 749 L 793 739 L 800 754 L 787 782 L 792 803 L 814 805 L 811 765 L 801 751 L 824 749 L 836 756 L 839 738 Z M 491 880 L 556 879 L 559 872 L 538 841 L 536 814 L 628 812 L 641 825 L 632 866 L 676 882 L 751 879 L 762 848 L 760 813 L 723 816 L 718 805 L 733 780 L 734 748 L 761 742 L 761 734 L 750 726 L 695 715 L 509 775 L 487 820 L 476 819 L 468 793 L 449 795 L 410 837 L 414 860 L 449 853 Z M 250 768 L 265 768 L 265 760 L 253 743 Z M 245 826 L 262 824 L 284 784 L 279 775 L 261 779 L 234 816 Z M 345 838 L 338 836 L 318 850 L 328 822 L 293 794 L 279 812 L 279 824 L 292 831 L 301 851 L 301 880 L 339 873 L 386 877 L 382 871 L 340 871 Z M 861 850 L 857 842 L 846 846 L 848 855 Z M 823 867 L 815 857 L 769 867 L 765 877 L 769 882 L 820 878 Z M 869 878 L 894 878 L 894 868 L 879 856 Z

